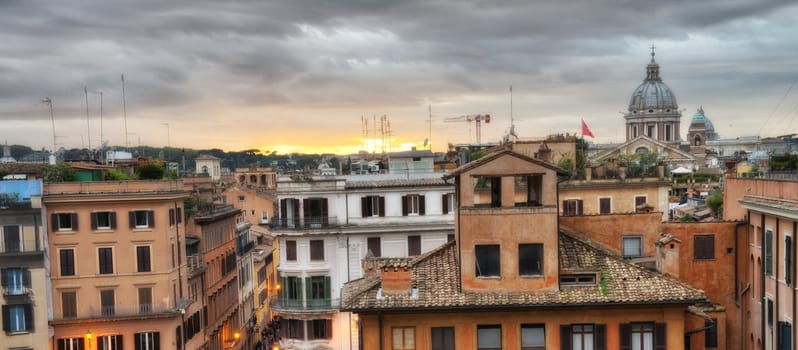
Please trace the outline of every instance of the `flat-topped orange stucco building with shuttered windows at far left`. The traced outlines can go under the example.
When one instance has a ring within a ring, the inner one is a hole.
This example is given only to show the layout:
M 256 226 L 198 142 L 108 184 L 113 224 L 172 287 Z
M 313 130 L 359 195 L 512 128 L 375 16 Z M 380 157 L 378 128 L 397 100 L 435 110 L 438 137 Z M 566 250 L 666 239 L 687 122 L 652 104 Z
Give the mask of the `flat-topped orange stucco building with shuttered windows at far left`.
M 56 349 L 181 349 L 181 181 L 50 183 L 43 190 Z

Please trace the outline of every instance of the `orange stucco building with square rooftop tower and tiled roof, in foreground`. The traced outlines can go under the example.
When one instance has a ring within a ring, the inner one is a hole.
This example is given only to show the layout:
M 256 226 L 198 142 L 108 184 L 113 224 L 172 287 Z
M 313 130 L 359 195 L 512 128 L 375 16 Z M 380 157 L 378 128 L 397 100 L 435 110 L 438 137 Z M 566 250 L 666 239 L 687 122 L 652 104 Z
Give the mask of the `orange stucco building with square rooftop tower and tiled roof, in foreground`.
M 455 242 L 344 287 L 362 348 L 684 349 L 706 295 L 561 230 L 561 174 L 502 150 L 447 175 Z

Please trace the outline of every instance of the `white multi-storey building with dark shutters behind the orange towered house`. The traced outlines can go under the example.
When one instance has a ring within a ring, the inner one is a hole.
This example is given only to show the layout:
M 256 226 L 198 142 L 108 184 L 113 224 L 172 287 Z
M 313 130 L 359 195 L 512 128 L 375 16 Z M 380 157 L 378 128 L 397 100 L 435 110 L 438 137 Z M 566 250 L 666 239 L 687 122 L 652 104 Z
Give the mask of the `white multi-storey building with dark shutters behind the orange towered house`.
M 454 239 L 454 185 L 440 174 L 278 179 L 271 222 L 279 247 L 284 349 L 356 349 L 357 320 L 339 312 L 361 261 L 421 255 Z

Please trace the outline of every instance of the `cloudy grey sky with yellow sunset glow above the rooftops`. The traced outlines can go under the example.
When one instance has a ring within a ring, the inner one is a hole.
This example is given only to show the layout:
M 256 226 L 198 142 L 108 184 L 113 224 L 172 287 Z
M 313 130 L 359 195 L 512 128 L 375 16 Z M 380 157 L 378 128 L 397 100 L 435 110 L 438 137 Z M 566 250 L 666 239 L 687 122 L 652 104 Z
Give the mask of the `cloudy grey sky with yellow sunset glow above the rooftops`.
M 652 45 L 682 138 L 701 106 L 722 138 L 782 135 L 798 129 L 795 18 L 764 0 L 0 0 L 0 141 L 443 151 L 476 141 L 447 118 L 490 114 L 483 142 L 511 116 L 521 138 L 584 120 L 622 142 Z

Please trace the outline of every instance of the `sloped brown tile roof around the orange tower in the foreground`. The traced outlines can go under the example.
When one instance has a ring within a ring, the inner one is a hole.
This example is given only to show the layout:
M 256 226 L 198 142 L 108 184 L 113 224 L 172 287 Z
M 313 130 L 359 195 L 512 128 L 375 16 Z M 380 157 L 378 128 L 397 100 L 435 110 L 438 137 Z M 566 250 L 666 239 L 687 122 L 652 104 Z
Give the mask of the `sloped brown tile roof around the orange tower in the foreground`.
M 466 308 L 557 307 L 580 305 L 645 305 L 707 302 L 703 291 L 662 274 L 624 261 L 600 246 L 566 232 L 559 235 L 560 270 L 598 272 L 595 285 L 562 286 L 559 291 L 459 291 L 457 248 L 448 242 L 412 260 L 411 284 L 418 295 L 379 295 L 380 277 L 357 279 L 344 285 L 342 309 L 451 310 Z

